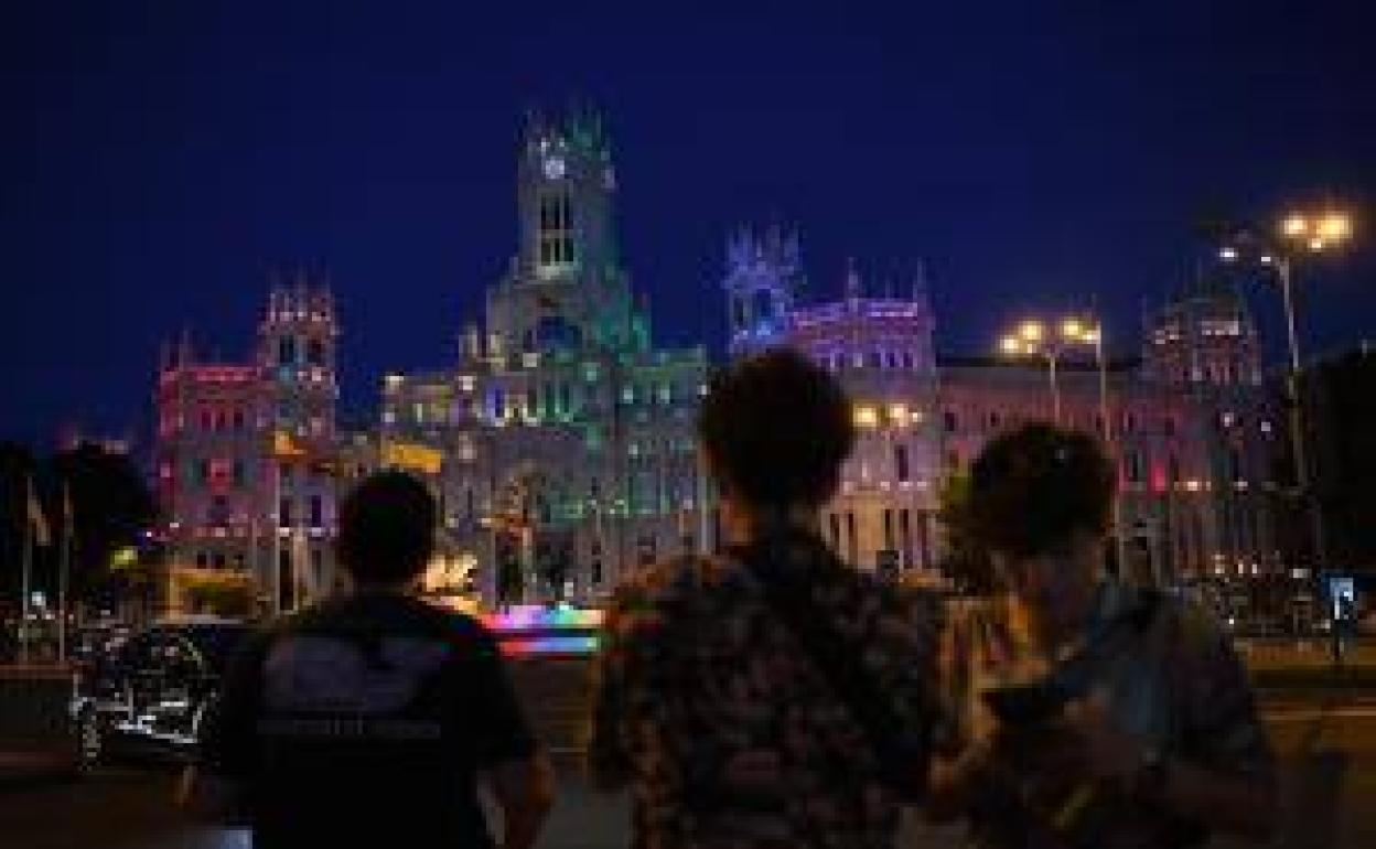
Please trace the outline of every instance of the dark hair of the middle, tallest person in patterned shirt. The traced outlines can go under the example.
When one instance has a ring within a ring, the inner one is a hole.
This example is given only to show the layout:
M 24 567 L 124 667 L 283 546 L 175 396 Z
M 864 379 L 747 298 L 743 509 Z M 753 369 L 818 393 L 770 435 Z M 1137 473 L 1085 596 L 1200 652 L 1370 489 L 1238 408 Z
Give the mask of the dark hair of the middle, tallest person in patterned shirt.
M 713 473 L 761 506 L 819 505 L 854 444 L 850 402 L 830 374 L 769 350 L 716 374 L 698 417 Z

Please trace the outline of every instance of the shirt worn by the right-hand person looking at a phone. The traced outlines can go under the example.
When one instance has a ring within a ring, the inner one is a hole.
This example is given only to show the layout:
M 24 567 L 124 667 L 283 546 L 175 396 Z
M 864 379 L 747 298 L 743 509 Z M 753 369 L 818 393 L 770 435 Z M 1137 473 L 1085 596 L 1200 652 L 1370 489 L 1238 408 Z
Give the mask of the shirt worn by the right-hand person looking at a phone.
M 1148 612 L 1134 618 L 1132 611 Z M 1035 649 L 1018 614 L 1009 599 L 965 601 L 951 610 L 941 673 L 948 716 L 955 718 L 948 728 L 952 749 L 982 736 L 993 722 L 981 703 L 984 689 L 1040 678 L 1066 663 L 1066 652 L 1047 660 Z M 1170 596 L 1108 583 L 1098 593 L 1094 629 L 1112 649 L 1094 652 L 1086 677 L 1091 692 L 1106 699 L 1109 718 L 1119 728 L 1170 758 L 1274 780 L 1274 757 L 1247 673 L 1212 616 Z M 1058 769 L 1054 758 L 1038 755 L 1003 766 L 976 794 L 969 816 L 980 846 L 1146 849 L 1194 845 L 1207 837 L 1198 823 L 1113 788 L 1087 790 Z M 1055 824 L 1077 791 L 1090 801 Z M 1042 842 L 1035 837 L 1039 832 L 1046 838 Z

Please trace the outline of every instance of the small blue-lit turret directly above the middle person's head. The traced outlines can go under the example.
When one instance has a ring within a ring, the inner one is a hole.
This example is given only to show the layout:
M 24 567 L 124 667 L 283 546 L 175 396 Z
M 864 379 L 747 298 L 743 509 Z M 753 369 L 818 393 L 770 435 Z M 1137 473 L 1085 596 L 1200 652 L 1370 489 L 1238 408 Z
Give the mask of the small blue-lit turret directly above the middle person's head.
M 794 301 L 802 289 L 798 234 L 771 227 L 740 228 L 727 239 L 728 348 L 732 356 L 787 341 Z

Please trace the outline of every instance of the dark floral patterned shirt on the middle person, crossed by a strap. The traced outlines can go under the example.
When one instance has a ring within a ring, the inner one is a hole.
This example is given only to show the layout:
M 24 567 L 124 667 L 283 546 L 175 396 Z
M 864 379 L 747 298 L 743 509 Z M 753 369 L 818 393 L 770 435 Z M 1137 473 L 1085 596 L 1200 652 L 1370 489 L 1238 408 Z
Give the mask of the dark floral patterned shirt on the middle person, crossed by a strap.
M 932 722 L 936 605 L 841 566 L 817 541 L 793 539 L 779 560 L 900 720 Z M 894 839 L 899 804 L 861 727 L 732 559 L 681 559 L 618 589 L 589 758 L 597 783 L 630 783 L 636 849 Z

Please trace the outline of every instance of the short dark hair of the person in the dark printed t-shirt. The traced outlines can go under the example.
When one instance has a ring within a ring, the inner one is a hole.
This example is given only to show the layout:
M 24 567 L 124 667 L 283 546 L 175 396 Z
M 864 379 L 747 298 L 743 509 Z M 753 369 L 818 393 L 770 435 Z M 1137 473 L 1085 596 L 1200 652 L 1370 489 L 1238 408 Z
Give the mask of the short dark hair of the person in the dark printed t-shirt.
M 369 475 L 340 504 L 340 563 L 358 583 L 399 583 L 425 571 L 435 498 L 406 472 Z

